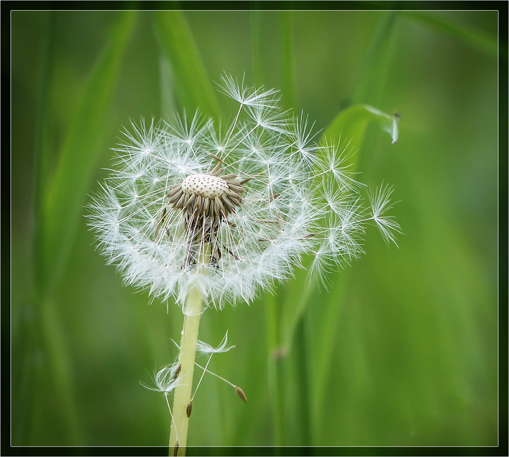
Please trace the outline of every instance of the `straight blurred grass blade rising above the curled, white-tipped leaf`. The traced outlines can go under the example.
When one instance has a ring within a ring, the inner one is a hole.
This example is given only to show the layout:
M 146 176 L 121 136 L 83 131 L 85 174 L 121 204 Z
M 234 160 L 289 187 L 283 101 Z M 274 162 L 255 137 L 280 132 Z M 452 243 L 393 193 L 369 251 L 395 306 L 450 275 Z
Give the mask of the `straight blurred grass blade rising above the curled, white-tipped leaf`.
M 366 58 L 362 77 L 352 94 L 352 103 L 379 104 L 392 53 L 395 11 L 387 11 L 380 20 L 375 39 Z

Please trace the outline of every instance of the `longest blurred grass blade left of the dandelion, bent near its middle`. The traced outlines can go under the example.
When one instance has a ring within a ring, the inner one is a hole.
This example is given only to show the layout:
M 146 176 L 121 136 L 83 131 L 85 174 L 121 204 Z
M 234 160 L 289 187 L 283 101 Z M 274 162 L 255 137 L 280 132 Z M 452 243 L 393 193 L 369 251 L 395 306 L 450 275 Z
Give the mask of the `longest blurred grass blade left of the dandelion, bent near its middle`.
M 95 172 L 109 100 L 134 18 L 135 13 L 123 12 L 112 27 L 105 49 L 84 86 L 77 115 L 70 125 L 52 177 L 46 173 L 45 156 L 48 151 L 45 150 L 47 132 L 44 128 L 47 128 L 47 123 L 44 119 L 39 132 L 41 163 L 38 182 L 40 206 L 36 209 L 38 224 L 35 235 L 35 275 L 38 288 L 36 296 L 40 306 L 43 344 L 54 385 L 61 394 L 62 412 L 67 420 L 67 436 L 62 430 L 62 440 L 73 445 L 83 444 L 84 441 L 74 401 L 66 337 L 51 296 L 72 246 L 84 195 Z M 44 94 L 47 87 L 42 91 Z M 41 97 L 44 103 L 41 108 L 43 117 L 48 112 L 48 98 Z M 36 384 L 37 380 L 33 382 Z

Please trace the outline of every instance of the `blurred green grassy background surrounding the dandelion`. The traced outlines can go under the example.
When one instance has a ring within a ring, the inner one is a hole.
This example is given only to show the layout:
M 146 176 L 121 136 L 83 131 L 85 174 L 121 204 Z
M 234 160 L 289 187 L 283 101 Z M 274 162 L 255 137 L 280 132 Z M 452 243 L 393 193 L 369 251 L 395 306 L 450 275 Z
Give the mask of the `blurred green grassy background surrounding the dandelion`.
M 236 346 L 210 367 L 248 403 L 205 376 L 188 445 L 497 445 L 497 11 L 11 19 L 13 445 L 167 445 L 164 397 L 138 381 L 176 357 L 182 313 L 123 285 L 84 206 L 131 120 L 231 120 L 223 73 L 281 89 L 317 132 L 358 103 L 398 112 L 395 145 L 376 123 L 332 133 L 359 148 L 359 180 L 393 186 L 403 235 L 367 230 L 327 288 L 302 292 L 298 272 L 207 310 L 200 338 Z

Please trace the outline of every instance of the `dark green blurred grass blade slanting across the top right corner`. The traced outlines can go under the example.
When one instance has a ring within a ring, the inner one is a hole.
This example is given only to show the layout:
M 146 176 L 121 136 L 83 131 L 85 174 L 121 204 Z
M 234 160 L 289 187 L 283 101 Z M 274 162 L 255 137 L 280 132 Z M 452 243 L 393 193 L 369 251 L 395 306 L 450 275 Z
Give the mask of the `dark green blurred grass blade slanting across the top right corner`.
M 431 11 L 402 11 L 401 14 L 463 41 L 492 57 L 498 56 L 498 40 L 494 35 L 460 25 Z M 503 57 L 507 59 L 507 48 L 504 50 Z

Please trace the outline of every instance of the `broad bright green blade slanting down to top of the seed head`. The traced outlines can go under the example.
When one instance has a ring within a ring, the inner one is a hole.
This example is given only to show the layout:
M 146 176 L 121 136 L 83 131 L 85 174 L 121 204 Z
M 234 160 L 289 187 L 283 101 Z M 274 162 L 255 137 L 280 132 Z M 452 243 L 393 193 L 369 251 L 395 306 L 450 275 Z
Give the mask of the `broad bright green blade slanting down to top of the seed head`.
M 177 97 L 183 108 L 196 108 L 218 120 L 221 109 L 211 81 L 181 11 L 155 12 L 154 26 L 162 54 L 171 64 Z M 167 114 L 167 113 L 166 113 Z

